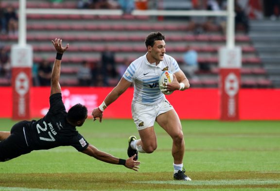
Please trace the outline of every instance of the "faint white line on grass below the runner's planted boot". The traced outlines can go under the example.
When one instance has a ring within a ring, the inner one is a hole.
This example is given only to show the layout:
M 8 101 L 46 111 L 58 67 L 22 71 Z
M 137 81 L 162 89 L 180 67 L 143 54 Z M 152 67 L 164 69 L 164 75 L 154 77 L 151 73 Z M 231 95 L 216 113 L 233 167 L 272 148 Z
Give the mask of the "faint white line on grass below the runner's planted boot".
M 221 185 L 270 185 L 280 184 L 280 180 L 192 180 L 192 181 L 135 181 L 140 184 L 174 184 L 190 186 L 221 186 Z

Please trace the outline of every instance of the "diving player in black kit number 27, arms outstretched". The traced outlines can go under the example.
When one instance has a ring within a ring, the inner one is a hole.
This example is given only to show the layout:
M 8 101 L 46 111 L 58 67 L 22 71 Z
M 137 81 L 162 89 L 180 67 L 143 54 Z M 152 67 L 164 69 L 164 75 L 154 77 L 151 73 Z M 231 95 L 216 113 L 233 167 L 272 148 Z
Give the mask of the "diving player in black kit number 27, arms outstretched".
M 69 44 L 62 47 L 62 39 L 59 38 L 55 38 L 52 42 L 57 53 L 51 78 L 50 109 L 47 115 L 37 121 L 20 121 L 12 127 L 11 132 L 0 132 L 0 162 L 34 150 L 72 146 L 77 151 L 98 160 L 124 165 L 126 168 L 138 171 L 140 162 L 133 160 L 136 154 L 126 160 L 117 158 L 99 151 L 78 133 L 76 126 L 83 125 L 88 117 L 88 109 L 84 105 L 76 104 L 70 108 L 68 113 L 66 112 L 58 80 L 62 55 L 69 48 Z

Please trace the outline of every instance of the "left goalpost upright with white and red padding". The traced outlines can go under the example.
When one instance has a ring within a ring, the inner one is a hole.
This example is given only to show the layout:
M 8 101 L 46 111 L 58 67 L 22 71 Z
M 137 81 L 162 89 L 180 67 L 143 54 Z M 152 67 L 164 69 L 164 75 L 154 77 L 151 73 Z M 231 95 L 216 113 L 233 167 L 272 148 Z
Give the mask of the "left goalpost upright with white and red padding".
M 30 118 L 30 87 L 33 50 L 26 44 L 26 0 L 19 0 L 18 44 L 11 48 L 13 115 L 12 118 Z

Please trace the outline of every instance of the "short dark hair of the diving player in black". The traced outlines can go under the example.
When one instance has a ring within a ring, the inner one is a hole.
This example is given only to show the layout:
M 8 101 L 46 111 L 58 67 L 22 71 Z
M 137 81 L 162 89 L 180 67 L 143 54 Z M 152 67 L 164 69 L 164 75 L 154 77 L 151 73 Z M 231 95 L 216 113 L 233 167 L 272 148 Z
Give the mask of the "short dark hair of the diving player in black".
M 87 116 L 87 107 L 80 103 L 73 105 L 67 113 L 67 119 L 72 123 L 84 120 Z

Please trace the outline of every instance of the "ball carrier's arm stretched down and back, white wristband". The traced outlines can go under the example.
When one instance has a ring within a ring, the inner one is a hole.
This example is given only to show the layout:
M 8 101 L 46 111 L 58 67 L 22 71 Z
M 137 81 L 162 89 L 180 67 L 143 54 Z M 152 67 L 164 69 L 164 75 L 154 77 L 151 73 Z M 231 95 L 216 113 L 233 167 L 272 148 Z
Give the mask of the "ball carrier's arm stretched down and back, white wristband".
M 95 120 L 96 117 L 99 117 L 99 121 L 101 122 L 104 110 L 116 99 L 118 99 L 118 97 L 121 96 L 127 90 L 127 88 L 131 86 L 131 83 L 132 82 L 127 81 L 122 77 L 118 85 L 105 97 L 103 103 L 99 107 L 93 109 L 91 113 L 93 120 Z

